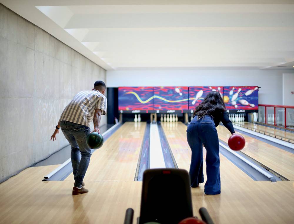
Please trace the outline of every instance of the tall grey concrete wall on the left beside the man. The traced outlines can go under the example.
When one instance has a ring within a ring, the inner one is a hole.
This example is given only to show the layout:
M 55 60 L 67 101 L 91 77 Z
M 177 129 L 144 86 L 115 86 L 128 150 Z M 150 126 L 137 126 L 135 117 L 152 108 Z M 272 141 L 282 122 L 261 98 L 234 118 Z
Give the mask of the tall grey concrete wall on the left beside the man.
M 103 68 L 0 4 L 0 182 L 69 144 L 50 137 L 96 80 L 106 81 Z

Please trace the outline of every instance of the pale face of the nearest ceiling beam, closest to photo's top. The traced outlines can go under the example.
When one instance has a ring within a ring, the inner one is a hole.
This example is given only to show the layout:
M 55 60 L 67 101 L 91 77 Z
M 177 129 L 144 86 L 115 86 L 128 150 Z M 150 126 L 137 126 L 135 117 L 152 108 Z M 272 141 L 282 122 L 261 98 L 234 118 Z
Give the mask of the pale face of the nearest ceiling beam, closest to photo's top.
M 136 18 L 136 19 L 134 19 Z M 293 13 L 75 14 L 68 28 L 294 27 Z

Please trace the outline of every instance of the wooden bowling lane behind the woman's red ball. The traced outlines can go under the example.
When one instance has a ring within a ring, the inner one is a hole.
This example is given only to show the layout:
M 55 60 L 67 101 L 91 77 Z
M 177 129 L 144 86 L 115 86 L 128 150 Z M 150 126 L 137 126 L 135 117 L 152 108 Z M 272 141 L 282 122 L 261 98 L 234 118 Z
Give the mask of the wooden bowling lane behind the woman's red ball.
M 222 125 L 217 127 L 219 139 L 228 142 L 230 132 Z M 238 130 L 235 130 L 238 133 Z M 242 153 L 267 166 L 289 180 L 294 180 L 294 154 L 263 141 L 239 133 L 246 144 Z

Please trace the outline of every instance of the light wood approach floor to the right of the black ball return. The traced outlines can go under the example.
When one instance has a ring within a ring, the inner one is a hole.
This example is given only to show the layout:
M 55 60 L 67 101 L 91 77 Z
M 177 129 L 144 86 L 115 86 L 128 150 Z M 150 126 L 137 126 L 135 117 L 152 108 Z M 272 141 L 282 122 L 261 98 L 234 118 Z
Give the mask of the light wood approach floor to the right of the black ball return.
M 294 181 L 222 181 L 219 195 L 192 188 L 194 215 L 207 208 L 216 224 L 294 223 Z

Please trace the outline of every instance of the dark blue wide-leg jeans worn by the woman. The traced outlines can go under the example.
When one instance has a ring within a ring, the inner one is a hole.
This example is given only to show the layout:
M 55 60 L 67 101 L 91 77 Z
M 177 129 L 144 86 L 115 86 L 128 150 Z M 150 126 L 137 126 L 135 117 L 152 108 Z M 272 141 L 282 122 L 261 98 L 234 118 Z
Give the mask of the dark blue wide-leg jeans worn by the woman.
M 211 116 L 205 115 L 197 120 L 193 118 L 187 128 L 187 141 L 192 151 L 190 165 L 191 187 L 197 187 L 204 182 L 203 177 L 203 148 L 206 148 L 206 175 L 204 193 L 220 193 L 220 157 L 218 133 Z

